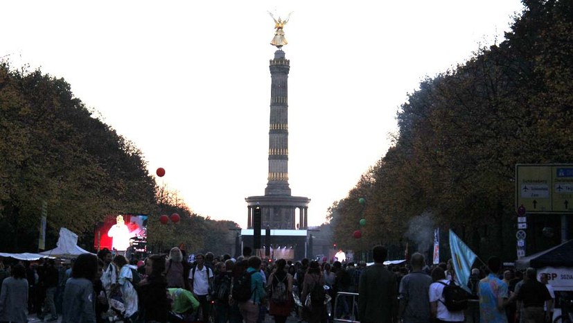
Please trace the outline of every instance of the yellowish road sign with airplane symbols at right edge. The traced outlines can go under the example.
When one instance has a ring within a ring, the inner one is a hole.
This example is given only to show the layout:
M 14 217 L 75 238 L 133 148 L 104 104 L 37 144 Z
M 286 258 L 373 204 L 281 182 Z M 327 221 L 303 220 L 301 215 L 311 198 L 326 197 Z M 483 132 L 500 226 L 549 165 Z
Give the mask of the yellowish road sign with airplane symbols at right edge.
M 516 164 L 515 209 L 573 213 L 573 164 Z

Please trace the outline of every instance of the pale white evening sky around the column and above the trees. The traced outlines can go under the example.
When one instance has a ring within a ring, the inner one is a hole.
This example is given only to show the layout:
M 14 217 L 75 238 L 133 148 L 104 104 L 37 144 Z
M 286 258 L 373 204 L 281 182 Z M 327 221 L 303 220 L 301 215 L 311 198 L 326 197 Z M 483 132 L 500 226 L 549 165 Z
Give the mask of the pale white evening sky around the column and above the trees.
M 382 157 L 425 76 L 503 40 L 519 0 L 2 2 L 0 58 L 64 78 L 201 216 L 267 184 L 269 44 L 285 17 L 289 183 L 309 225 Z M 275 11 L 276 10 L 276 11 Z M 137 212 L 138 210 L 132 210 Z

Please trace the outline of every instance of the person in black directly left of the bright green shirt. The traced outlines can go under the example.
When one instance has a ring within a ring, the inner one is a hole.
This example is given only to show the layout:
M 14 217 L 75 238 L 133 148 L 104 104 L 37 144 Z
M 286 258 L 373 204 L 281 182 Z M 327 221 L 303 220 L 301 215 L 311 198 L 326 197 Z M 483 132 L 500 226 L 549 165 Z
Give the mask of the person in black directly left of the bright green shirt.
M 167 299 L 167 280 L 165 257 L 159 254 L 149 256 L 146 261 L 147 277 L 136 288 L 141 302 L 143 322 L 167 322 L 169 302 Z

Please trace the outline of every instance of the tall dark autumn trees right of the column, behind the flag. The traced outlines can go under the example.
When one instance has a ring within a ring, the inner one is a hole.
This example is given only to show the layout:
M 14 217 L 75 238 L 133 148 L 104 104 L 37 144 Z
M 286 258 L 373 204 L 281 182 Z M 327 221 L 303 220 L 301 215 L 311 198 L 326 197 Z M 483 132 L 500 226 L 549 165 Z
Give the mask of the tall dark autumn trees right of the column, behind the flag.
M 330 209 L 339 245 L 368 247 L 352 237 L 364 197 L 364 241 L 404 247 L 409 225 L 430 214 L 485 258 L 515 258 L 515 164 L 573 160 L 573 5 L 523 2 L 504 42 L 409 94 L 394 146 Z M 558 243 L 540 233 L 555 218 L 529 225 L 529 250 Z

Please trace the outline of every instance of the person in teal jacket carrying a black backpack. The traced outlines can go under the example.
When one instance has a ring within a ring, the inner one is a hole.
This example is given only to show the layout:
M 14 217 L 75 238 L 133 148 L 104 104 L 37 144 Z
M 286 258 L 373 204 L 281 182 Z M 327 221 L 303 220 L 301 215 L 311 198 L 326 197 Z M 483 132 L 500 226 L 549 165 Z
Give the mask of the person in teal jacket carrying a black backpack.
M 265 302 L 266 292 L 261 277 L 261 258 L 250 256 L 245 270 L 233 281 L 232 297 L 239 304 L 245 323 L 256 323 L 260 304 Z

